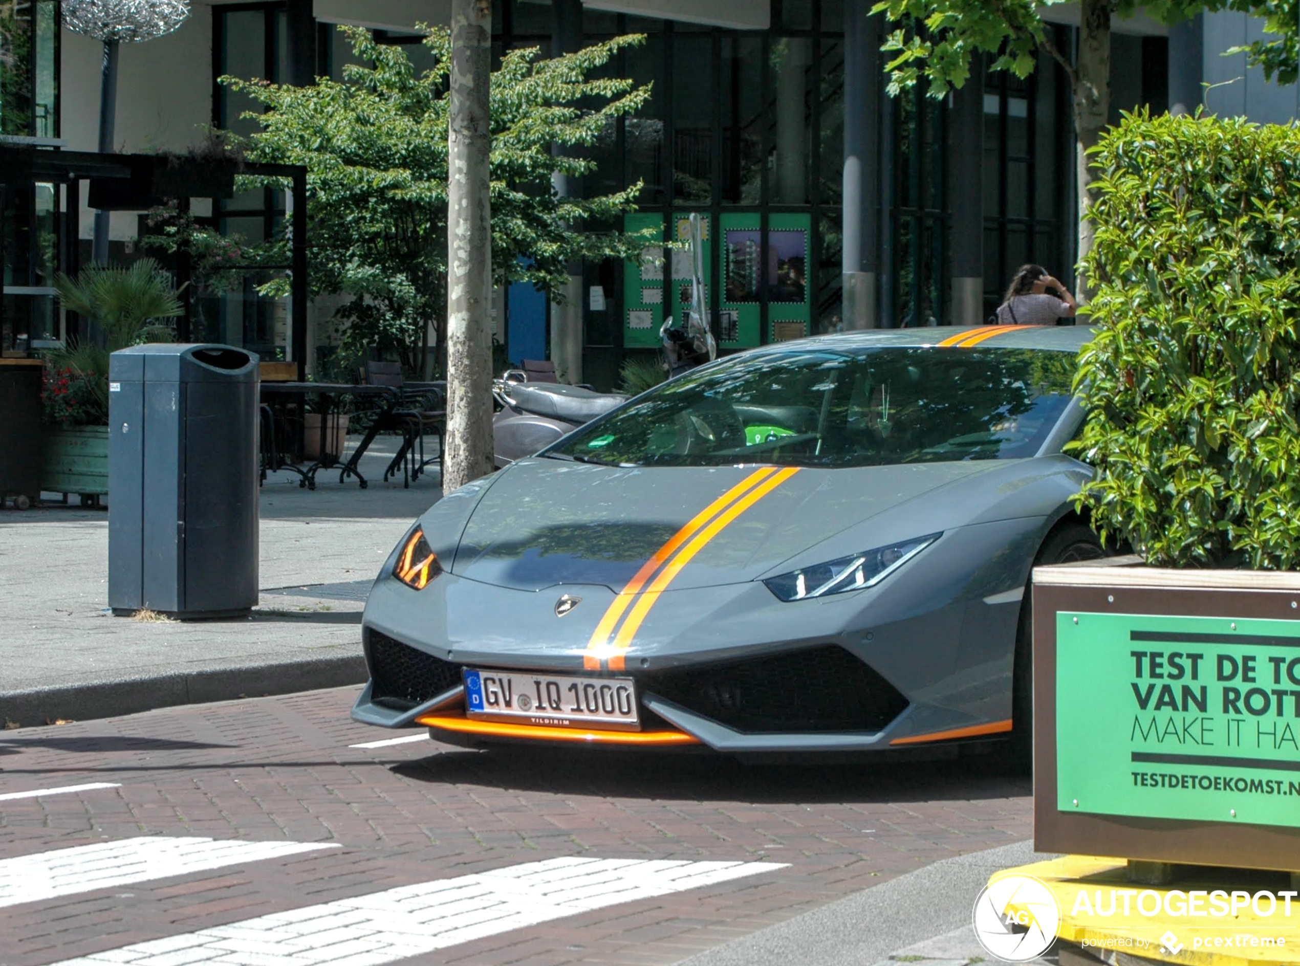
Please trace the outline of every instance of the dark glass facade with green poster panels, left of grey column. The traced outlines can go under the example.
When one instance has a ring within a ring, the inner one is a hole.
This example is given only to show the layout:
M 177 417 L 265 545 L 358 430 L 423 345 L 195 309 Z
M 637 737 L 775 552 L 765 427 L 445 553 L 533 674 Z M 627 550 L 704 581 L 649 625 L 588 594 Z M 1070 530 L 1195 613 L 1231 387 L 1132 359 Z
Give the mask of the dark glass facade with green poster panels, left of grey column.
M 549 5 L 504 0 L 497 49 L 551 49 Z M 734 31 L 584 9 L 584 44 L 644 34 L 607 70 L 653 85 L 650 101 L 589 151 L 576 190 L 642 185 L 625 228 L 685 238 L 703 218 L 705 276 L 722 348 L 833 328 L 840 312 L 842 8 L 774 4 L 772 29 Z M 594 226 L 602 228 L 602 226 Z M 629 351 L 654 348 L 689 302 L 682 252 L 584 268 L 584 378 L 616 381 Z M 598 293 L 597 293 L 598 290 Z M 593 293 L 597 293 L 593 296 Z M 514 356 L 511 356 L 514 358 Z

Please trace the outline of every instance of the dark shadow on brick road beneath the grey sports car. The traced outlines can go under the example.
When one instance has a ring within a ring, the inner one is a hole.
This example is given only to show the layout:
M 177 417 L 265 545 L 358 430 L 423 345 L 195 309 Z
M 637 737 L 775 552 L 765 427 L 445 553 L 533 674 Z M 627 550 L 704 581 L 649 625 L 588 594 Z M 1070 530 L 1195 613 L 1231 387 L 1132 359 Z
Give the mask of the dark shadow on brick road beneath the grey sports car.
M 393 766 L 412 781 L 480 784 L 510 790 L 610 798 L 686 801 L 907 802 L 1028 796 L 1028 776 L 994 755 L 954 761 L 746 764 L 711 753 L 628 753 L 607 749 L 498 748 L 455 750 Z

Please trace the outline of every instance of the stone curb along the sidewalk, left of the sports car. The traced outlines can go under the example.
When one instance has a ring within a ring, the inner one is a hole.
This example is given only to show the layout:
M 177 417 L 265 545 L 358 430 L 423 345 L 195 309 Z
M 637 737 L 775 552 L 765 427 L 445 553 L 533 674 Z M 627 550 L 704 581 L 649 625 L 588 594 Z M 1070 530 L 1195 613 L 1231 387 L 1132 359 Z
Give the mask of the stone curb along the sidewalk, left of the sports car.
M 344 688 L 365 684 L 368 679 L 365 658 L 348 654 L 282 664 L 222 667 L 124 681 L 0 692 L 0 720 L 16 722 L 22 727 L 60 719 L 87 722 L 177 705 Z

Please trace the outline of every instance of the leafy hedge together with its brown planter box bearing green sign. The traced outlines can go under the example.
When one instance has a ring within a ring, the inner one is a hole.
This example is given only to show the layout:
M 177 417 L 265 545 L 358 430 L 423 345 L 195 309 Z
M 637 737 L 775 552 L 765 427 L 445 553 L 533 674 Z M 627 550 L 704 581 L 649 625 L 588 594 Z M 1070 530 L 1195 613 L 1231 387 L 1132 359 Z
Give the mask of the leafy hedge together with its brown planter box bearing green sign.
M 1092 163 L 1078 506 L 1138 556 L 1035 571 L 1035 844 L 1300 870 L 1300 130 L 1143 112 Z

